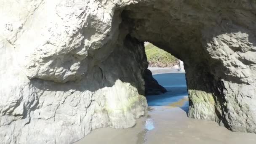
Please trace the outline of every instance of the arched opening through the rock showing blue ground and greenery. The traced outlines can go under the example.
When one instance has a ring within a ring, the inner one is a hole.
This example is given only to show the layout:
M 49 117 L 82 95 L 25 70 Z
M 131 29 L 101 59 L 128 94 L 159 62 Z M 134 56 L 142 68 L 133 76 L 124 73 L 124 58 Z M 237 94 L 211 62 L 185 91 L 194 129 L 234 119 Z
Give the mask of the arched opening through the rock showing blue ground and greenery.
M 180 107 L 188 112 L 188 93 L 183 61 L 145 42 L 149 63 L 144 75 L 145 96 L 149 107 Z

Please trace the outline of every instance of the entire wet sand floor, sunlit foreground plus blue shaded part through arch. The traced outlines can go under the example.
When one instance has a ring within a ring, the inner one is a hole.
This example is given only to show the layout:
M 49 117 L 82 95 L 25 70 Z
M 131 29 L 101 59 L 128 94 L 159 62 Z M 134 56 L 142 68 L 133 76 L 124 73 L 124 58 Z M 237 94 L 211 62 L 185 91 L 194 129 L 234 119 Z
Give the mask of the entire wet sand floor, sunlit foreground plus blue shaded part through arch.
M 237 133 L 187 117 L 184 73 L 154 75 L 168 92 L 147 96 L 149 111 L 133 128 L 100 128 L 75 144 L 256 144 L 256 134 Z

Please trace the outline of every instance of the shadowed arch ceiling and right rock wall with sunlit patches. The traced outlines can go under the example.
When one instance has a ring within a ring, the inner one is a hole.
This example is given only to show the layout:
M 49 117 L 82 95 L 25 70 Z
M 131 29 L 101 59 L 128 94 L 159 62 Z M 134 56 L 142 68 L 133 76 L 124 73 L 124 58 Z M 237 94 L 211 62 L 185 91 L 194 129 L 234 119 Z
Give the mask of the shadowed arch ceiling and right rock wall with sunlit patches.
M 188 116 L 256 132 L 256 3 L 158 0 L 125 7 L 130 33 L 184 61 Z

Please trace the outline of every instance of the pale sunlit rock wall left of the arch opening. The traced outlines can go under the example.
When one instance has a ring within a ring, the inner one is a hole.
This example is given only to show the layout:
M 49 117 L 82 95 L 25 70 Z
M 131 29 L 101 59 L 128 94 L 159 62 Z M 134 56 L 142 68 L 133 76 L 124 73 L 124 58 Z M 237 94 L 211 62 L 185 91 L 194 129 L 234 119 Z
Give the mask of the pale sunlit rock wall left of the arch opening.
M 135 125 L 147 109 L 147 58 L 119 28 L 116 5 L 21 2 L 0 2 L 1 144 L 70 144 Z

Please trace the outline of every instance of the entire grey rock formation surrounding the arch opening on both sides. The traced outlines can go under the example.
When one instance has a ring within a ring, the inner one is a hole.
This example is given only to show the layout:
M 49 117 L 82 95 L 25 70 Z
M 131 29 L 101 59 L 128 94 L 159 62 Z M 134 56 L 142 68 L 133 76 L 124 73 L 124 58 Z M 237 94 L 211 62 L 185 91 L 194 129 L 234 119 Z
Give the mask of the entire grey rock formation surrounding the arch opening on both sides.
M 256 133 L 255 0 L 0 1 L 0 139 L 69 144 L 144 115 L 144 41 L 184 61 L 189 117 Z

